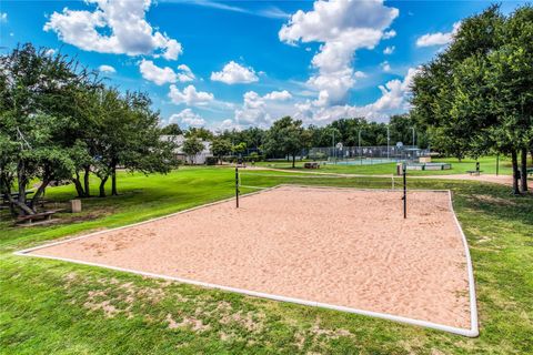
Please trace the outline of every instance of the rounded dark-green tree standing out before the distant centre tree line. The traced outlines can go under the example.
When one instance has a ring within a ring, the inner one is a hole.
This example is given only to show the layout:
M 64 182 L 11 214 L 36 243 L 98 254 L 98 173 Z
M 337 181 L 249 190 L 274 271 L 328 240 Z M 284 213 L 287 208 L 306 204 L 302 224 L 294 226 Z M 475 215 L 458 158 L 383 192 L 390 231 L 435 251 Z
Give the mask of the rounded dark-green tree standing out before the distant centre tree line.
M 263 149 L 266 154 L 283 154 L 292 156 L 292 168 L 295 166 L 296 155 L 309 148 L 311 135 L 302 126 L 302 121 L 284 116 L 272 124 L 266 132 Z

